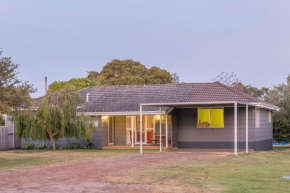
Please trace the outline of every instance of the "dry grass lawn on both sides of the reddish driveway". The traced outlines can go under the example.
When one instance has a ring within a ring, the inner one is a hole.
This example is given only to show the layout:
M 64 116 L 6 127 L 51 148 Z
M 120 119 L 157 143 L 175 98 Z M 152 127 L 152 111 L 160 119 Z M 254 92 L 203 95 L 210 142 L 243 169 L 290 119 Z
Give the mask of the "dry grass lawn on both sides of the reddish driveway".
M 157 150 L 144 150 L 144 153 Z M 0 173 L 139 154 L 139 150 L 17 150 L 0 152 Z M 181 154 L 180 154 L 181 155 Z M 289 192 L 290 148 L 239 156 L 203 157 L 122 170 L 102 177 L 128 186 L 178 187 L 179 192 Z

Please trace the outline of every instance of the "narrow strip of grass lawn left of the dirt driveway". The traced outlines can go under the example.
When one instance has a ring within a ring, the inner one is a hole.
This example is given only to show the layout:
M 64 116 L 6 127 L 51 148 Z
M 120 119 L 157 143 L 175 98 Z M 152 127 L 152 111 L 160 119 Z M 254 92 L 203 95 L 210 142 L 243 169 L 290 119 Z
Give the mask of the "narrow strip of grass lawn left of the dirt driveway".
M 157 150 L 145 150 L 150 153 Z M 56 164 L 67 164 L 96 159 L 139 154 L 139 150 L 15 150 L 0 151 L 0 172 L 19 170 L 27 167 L 41 167 Z

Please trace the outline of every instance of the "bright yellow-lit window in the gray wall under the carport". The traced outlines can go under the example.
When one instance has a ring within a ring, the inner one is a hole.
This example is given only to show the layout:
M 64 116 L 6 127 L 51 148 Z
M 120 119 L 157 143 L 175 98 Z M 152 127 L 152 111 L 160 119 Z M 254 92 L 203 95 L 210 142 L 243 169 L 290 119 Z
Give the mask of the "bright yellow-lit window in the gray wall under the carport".
M 224 109 L 198 109 L 198 128 L 224 127 Z

